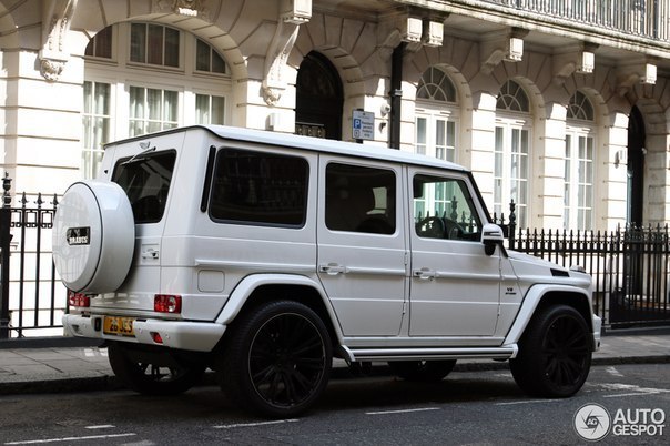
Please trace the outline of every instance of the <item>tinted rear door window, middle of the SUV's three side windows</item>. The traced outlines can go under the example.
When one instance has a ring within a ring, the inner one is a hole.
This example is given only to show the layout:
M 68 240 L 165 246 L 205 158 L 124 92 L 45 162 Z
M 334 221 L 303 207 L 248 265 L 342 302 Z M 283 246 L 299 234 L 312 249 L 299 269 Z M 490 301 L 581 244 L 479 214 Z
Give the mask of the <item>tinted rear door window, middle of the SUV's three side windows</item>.
M 326 166 L 326 226 L 332 231 L 393 234 L 396 175 L 392 170 L 331 163 Z

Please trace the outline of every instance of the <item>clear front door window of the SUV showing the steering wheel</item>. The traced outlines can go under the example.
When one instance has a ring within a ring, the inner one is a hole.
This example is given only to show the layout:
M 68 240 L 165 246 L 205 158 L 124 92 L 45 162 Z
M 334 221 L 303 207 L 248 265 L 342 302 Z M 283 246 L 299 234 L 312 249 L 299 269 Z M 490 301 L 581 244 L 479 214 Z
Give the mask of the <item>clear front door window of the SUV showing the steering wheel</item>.
M 416 175 L 415 231 L 419 237 L 478 241 L 481 220 L 465 181 Z

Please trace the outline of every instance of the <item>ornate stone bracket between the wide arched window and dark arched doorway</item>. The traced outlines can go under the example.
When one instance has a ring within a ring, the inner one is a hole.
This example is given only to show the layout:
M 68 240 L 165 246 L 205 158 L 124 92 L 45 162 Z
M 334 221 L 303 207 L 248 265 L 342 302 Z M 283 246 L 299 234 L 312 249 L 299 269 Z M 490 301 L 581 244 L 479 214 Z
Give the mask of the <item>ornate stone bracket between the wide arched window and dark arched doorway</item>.
M 263 100 L 270 107 L 277 104 L 286 89 L 286 81 L 282 75 L 286 60 L 297 39 L 300 26 L 309 21 L 311 18 L 311 0 L 284 0 L 282 2 L 280 21 L 265 54 L 263 85 L 261 87 Z

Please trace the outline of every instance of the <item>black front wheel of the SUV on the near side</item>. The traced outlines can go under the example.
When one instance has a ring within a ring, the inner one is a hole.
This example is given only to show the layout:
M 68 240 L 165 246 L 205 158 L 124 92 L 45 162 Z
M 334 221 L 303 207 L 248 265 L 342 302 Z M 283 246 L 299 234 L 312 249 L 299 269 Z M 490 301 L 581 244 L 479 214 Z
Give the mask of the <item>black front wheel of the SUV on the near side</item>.
M 591 334 L 581 314 L 567 305 L 554 305 L 534 317 L 509 367 L 529 395 L 561 398 L 581 388 L 591 354 Z

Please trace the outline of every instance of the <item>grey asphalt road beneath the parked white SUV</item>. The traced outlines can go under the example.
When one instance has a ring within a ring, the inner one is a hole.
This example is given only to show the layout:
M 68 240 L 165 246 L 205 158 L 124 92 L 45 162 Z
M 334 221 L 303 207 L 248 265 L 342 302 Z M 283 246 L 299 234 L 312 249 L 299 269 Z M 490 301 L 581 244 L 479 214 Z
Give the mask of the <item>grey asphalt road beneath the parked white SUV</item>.
M 0 445 L 585 444 L 578 429 L 608 445 L 669 444 L 668 417 L 670 364 L 640 364 L 593 367 L 568 399 L 527 397 L 506 371 L 454 373 L 429 385 L 338 379 L 307 416 L 278 422 L 232 407 L 216 387 L 177 397 L 4 396 Z

